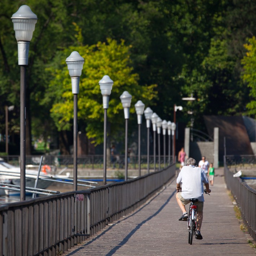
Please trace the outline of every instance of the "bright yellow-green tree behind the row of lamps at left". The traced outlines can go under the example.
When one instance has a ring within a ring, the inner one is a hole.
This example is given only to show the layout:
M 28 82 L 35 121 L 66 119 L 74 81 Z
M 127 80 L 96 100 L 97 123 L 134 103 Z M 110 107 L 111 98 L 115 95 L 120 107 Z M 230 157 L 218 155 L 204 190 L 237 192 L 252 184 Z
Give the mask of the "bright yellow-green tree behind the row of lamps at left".
M 134 104 L 137 100 L 140 99 L 145 105 L 149 105 L 150 101 L 156 98 L 156 85 L 139 85 L 138 74 L 132 72 L 130 48 L 131 46 L 125 46 L 124 41 L 118 44 L 116 40 L 107 39 L 106 43 L 80 45 L 60 52 L 62 61 L 59 61 L 60 56 L 54 61 L 60 63 L 59 67 L 49 70 L 53 79 L 47 93 L 47 99 L 53 102 L 51 116 L 59 131 L 70 130 L 72 127 L 73 94 L 65 59 L 74 50 L 85 59 L 78 94 L 78 120 L 81 126 L 86 126 L 87 136 L 93 138 L 96 144 L 103 140 L 104 115 L 98 84 L 103 75 L 109 75 L 114 81 L 108 109 L 111 136 L 120 136 L 120 130 L 123 128 L 123 107 L 119 98 L 123 91 L 128 91 L 133 96 L 131 114 L 135 112 Z

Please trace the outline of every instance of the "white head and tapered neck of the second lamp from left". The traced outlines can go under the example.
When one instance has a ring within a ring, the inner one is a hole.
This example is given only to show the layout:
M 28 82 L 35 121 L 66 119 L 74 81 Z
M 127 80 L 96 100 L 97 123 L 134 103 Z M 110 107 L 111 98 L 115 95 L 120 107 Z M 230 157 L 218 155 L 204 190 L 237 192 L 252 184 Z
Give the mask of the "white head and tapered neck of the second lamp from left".
M 67 69 L 71 76 L 72 93 L 79 93 L 79 80 L 82 74 L 84 65 L 84 58 L 76 51 L 72 52 L 69 57 L 66 58 Z

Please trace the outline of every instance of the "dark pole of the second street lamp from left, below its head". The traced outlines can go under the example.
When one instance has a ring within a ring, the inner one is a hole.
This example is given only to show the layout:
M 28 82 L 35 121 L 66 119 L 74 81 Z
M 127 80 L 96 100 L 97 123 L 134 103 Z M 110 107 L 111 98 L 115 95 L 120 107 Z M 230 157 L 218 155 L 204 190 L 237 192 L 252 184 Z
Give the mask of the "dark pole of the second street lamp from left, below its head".
M 74 191 L 77 191 L 77 107 L 78 94 L 74 93 Z

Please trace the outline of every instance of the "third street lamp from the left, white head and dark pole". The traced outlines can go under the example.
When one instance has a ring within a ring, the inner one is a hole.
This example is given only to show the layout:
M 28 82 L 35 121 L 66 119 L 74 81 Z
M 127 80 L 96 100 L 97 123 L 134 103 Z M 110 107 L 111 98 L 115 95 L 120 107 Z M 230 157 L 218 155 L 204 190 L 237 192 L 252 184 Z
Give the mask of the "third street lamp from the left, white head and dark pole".
M 109 96 L 111 94 L 112 85 L 114 82 L 109 76 L 105 75 L 99 81 L 101 94 L 103 98 L 103 109 L 104 109 L 104 149 L 103 149 L 103 183 L 107 183 L 107 109 L 109 108 Z

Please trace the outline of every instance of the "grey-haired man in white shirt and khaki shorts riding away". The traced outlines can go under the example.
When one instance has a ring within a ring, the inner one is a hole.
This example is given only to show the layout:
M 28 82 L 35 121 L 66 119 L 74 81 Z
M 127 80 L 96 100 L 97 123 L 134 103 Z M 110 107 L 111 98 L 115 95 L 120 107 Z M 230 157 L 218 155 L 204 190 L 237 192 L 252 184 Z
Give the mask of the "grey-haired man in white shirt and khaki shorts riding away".
M 197 162 L 193 158 L 187 159 L 187 166 L 182 167 L 177 178 L 177 203 L 181 208 L 183 215 L 179 220 L 187 221 L 188 214 L 186 212 L 185 205 L 190 203 L 190 198 L 197 198 L 197 231 L 195 233 L 196 239 L 203 239 L 200 229 L 203 221 L 203 206 L 204 206 L 204 187 L 206 192 L 210 193 L 209 181 L 204 173 L 203 169 L 197 167 Z M 182 191 L 180 184 L 182 183 Z

